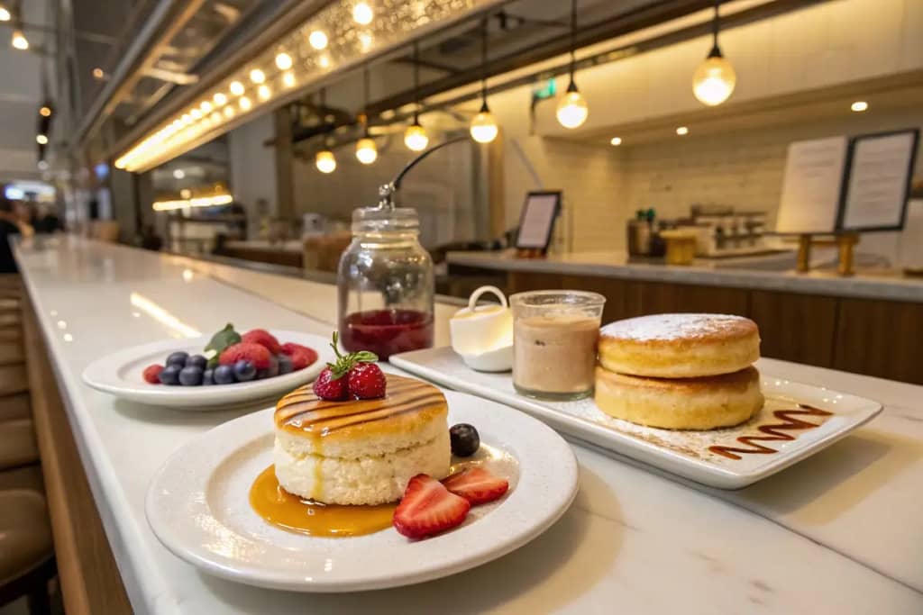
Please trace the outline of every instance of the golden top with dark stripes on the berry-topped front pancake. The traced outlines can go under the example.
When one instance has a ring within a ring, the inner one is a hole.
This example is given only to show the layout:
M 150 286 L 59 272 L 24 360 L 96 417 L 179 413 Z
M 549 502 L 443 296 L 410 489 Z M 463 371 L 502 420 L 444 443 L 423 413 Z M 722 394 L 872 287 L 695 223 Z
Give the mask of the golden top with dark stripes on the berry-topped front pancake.
M 295 389 L 279 400 L 275 421 L 280 427 L 322 437 L 403 414 L 445 408 L 445 404 L 445 397 L 434 386 L 388 376 L 388 395 L 380 399 L 328 401 L 316 396 L 310 385 Z

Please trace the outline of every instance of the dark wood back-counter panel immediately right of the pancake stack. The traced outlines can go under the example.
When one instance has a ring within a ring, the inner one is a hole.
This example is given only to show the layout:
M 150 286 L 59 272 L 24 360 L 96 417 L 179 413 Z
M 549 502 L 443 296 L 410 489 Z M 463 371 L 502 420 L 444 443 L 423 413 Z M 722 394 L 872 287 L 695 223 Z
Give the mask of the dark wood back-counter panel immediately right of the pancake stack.
M 762 356 L 833 367 L 836 304 L 833 297 L 752 290 L 749 317 L 760 325 Z

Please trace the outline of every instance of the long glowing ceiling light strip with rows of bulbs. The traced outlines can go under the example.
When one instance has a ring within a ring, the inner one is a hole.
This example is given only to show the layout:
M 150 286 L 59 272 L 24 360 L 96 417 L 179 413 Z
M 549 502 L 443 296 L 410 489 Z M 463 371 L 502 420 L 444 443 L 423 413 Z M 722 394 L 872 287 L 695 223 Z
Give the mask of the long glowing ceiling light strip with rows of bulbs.
M 241 62 L 210 89 L 198 89 L 197 98 L 155 124 L 116 158 L 115 166 L 134 172 L 150 170 L 262 112 L 293 101 L 334 73 L 502 1 L 376 0 L 366 3 L 373 16 L 367 24 L 354 19 L 355 0 L 333 2 L 250 61 Z M 365 17 L 363 13 L 363 20 Z M 328 39 L 322 50 L 310 41 L 317 31 Z M 280 63 L 283 53 L 287 58 Z M 205 101 L 224 101 L 225 108 L 220 114 L 202 112 Z

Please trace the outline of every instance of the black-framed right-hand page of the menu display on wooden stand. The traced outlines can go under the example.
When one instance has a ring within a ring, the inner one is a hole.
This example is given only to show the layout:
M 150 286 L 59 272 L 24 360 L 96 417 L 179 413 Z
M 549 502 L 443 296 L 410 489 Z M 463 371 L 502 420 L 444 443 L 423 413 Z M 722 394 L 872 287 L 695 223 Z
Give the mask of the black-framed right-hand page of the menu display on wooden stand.
M 839 229 L 904 228 L 919 136 L 919 129 L 912 129 L 853 139 Z

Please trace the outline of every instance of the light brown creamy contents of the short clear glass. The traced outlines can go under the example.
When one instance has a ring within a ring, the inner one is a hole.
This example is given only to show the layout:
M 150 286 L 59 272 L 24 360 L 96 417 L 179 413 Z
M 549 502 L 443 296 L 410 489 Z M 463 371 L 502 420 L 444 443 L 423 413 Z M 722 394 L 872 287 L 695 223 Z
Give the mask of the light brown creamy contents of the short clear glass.
M 589 392 L 593 389 L 599 318 L 526 316 L 513 326 L 513 384 L 524 395 Z M 543 395 L 544 396 L 544 395 Z

